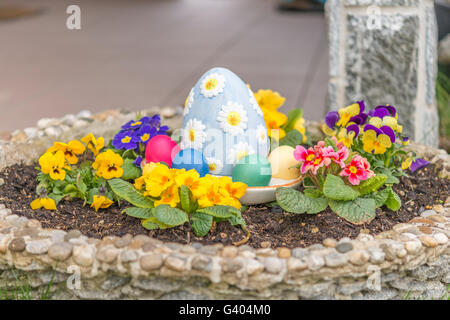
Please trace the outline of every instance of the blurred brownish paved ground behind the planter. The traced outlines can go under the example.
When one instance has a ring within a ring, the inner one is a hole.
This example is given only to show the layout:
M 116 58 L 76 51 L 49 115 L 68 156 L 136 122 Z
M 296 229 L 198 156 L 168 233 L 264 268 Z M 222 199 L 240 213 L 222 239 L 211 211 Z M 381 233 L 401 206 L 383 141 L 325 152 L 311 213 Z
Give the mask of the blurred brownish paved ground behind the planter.
M 323 14 L 280 13 L 275 0 L 6 0 L 42 14 L 0 20 L 0 131 L 83 109 L 184 103 L 213 66 L 320 119 L 327 88 Z M 81 7 L 81 30 L 66 7 Z

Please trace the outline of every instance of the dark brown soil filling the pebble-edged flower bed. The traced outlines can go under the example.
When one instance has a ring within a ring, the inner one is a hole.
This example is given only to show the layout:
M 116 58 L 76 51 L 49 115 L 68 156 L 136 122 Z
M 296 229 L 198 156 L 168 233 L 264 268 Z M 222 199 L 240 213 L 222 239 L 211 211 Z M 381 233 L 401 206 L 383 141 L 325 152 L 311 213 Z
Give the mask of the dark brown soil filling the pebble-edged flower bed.
M 113 205 L 95 212 L 89 206 L 83 206 L 80 200 L 61 201 L 57 211 L 33 211 L 30 203 L 36 197 L 37 173 L 35 166 L 24 165 L 15 165 L 0 172 L 0 178 L 5 180 L 5 184 L 0 187 L 0 202 L 5 203 L 17 215 L 41 221 L 44 228 L 78 229 L 95 238 L 123 236 L 127 233 L 147 234 L 160 240 L 180 243 L 231 244 L 245 237 L 240 228 L 232 227 L 228 222 L 218 223 L 215 230 L 204 238 L 195 237 L 188 224 L 148 231 L 138 219 L 122 214 L 123 207 Z M 317 215 L 306 215 L 283 212 L 277 205 L 250 206 L 243 213 L 251 233 L 247 244 L 258 248 L 262 242 L 268 242 L 273 248 L 293 248 L 320 243 L 328 237 L 354 238 L 362 229 L 363 232 L 377 234 L 391 229 L 397 223 L 411 220 L 433 204 L 441 204 L 448 196 L 449 181 L 437 178 L 435 165 L 429 165 L 400 180 L 401 183 L 394 186 L 394 189 L 400 194 L 402 208 L 398 212 L 377 209 L 376 218 L 366 225 L 353 225 L 330 209 Z

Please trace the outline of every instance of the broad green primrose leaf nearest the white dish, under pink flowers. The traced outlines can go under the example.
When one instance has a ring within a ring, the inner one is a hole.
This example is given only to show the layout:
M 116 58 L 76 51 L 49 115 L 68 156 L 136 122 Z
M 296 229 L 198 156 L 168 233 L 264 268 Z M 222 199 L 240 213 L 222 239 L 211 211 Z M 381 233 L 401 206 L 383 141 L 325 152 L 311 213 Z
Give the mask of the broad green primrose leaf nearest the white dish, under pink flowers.
M 312 199 L 291 188 L 277 188 L 276 199 L 283 210 L 292 213 L 315 214 L 325 210 L 328 206 L 326 198 Z

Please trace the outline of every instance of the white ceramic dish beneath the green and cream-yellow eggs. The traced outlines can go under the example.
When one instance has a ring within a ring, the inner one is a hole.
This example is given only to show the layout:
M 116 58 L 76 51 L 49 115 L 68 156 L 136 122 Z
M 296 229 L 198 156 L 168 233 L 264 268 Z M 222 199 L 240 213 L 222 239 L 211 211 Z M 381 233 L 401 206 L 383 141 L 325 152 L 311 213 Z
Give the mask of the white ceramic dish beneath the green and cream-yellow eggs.
M 248 187 L 245 195 L 239 199 L 243 205 L 261 204 L 275 201 L 275 191 L 280 187 L 295 188 L 302 182 L 302 177 L 293 180 L 272 178 L 266 187 Z

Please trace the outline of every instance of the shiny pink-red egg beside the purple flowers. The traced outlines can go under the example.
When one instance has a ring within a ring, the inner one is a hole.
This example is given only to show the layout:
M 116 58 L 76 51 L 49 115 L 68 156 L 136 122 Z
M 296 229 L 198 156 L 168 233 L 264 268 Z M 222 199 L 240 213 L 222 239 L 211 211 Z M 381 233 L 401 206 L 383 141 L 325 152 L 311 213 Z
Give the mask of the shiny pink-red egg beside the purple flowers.
M 145 160 L 149 162 L 165 162 L 172 167 L 173 157 L 180 151 L 180 147 L 169 136 L 157 135 L 147 142 Z

